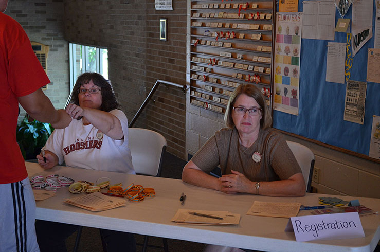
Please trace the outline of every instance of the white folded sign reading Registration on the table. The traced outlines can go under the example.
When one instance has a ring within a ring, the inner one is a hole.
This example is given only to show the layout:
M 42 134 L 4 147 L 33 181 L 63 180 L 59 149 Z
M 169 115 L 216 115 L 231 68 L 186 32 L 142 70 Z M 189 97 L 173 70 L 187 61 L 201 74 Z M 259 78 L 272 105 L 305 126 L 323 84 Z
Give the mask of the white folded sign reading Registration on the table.
M 357 212 L 291 217 L 285 231 L 297 242 L 365 237 Z

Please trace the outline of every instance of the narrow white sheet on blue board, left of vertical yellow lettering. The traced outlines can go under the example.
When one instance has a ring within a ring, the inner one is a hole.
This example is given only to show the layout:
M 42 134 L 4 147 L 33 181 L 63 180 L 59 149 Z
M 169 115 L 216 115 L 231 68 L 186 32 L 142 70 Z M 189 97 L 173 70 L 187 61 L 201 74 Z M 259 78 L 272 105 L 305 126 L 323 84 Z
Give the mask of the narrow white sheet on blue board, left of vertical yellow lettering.
M 346 43 L 329 42 L 326 81 L 345 84 Z

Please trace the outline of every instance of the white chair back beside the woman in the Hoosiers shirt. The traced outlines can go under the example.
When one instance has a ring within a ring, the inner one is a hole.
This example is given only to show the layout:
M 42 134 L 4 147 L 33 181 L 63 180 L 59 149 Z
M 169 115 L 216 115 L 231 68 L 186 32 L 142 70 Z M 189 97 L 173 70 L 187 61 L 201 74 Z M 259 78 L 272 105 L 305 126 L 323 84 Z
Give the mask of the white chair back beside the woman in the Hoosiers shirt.
M 167 146 L 164 136 L 148 129 L 129 128 L 128 145 L 137 174 L 161 176 L 162 157 Z

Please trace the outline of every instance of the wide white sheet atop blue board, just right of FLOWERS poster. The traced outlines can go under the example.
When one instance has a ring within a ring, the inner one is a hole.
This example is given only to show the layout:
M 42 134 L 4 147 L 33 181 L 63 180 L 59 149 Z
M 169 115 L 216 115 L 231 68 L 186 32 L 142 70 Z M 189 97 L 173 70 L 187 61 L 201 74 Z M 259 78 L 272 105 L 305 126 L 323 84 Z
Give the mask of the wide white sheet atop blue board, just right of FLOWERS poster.
M 332 1 L 304 1 L 302 39 L 335 40 L 335 5 Z

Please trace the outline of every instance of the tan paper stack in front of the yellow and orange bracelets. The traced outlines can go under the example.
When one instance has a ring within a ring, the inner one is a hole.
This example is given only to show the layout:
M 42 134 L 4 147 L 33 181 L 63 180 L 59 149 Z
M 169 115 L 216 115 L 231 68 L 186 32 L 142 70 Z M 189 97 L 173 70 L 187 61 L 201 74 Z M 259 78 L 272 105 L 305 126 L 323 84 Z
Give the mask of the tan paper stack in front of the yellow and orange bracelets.
M 117 197 L 106 196 L 100 192 L 93 192 L 73 199 L 65 199 L 66 203 L 90 210 L 104 211 L 125 205 L 125 200 Z

